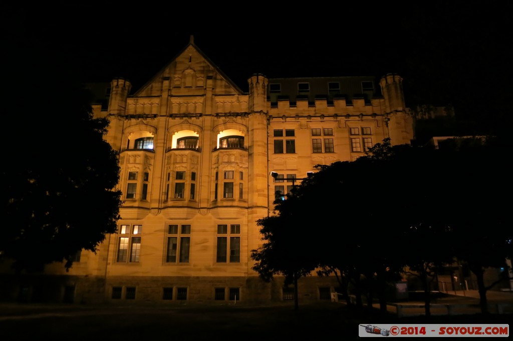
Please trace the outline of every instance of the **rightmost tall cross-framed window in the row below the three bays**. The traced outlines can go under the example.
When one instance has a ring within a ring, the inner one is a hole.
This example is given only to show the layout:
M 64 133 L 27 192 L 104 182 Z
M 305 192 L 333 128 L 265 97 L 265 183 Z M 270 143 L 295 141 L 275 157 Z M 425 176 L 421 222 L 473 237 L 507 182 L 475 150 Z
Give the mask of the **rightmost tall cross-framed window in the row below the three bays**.
M 218 225 L 217 263 L 239 263 L 241 261 L 241 225 Z

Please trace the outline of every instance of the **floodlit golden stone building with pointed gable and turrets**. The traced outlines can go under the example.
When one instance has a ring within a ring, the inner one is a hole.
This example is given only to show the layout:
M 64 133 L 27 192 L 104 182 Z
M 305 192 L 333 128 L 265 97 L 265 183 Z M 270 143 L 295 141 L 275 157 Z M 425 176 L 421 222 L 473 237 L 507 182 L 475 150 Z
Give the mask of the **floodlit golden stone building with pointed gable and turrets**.
M 119 152 L 119 230 L 96 254 L 83 251 L 69 272 L 47 266 L 52 276 L 38 285 L 58 279 L 57 300 L 85 303 L 290 298 L 282 282 L 265 283 L 251 270 L 250 252 L 262 243 L 256 221 L 272 214 L 276 191 L 384 138 L 410 143 L 413 122 L 394 74 L 379 81 L 255 74 L 248 85 L 241 91 L 192 38 L 141 89 L 112 80 L 108 108 L 93 110 L 109 118 L 106 139 Z M 336 286 L 310 276 L 299 294 L 329 299 Z

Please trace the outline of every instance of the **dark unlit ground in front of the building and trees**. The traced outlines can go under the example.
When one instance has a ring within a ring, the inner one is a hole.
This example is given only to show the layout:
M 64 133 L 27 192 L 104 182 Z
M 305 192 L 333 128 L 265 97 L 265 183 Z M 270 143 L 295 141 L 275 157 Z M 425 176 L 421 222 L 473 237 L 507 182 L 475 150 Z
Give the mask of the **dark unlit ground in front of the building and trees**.
M 368 324 L 508 324 L 512 314 L 403 317 L 339 303 L 266 307 L 0 305 L 0 340 L 263 340 L 358 337 Z M 379 336 L 379 335 L 373 335 Z

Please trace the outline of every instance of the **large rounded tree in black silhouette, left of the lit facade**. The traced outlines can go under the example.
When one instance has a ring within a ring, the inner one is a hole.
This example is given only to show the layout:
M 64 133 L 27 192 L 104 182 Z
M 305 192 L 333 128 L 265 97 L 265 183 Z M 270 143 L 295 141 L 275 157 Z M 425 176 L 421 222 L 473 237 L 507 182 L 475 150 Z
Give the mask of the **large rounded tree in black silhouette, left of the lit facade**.
M 4 107 L 0 260 L 18 271 L 63 260 L 68 269 L 77 251 L 96 251 L 116 229 L 117 153 L 103 139 L 107 119 L 93 117 L 91 94 L 73 69 L 54 55 L 30 52 L 25 68 L 9 73 Z

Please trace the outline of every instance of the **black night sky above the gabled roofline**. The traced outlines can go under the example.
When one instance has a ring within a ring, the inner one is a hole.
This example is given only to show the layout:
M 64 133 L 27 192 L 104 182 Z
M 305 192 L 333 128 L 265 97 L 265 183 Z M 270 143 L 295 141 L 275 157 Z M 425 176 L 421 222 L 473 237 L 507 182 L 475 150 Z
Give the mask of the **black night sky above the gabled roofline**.
M 433 89 L 441 78 L 447 97 L 457 84 L 469 87 L 483 76 L 509 84 L 511 76 L 512 12 L 505 1 L 310 2 L 290 8 L 148 1 L 135 10 L 126 4 L 4 4 L 4 32 L 14 46 L 9 51 L 22 55 L 15 58 L 19 66 L 38 54 L 55 55 L 85 81 L 123 76 L 134 87 L 176 56 L 190 35 L 243 90 L 253 73 L 397 72 L 408 80 L 410 98 L 416 91 L 432 100 L 440 95 Z

